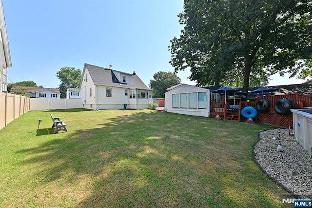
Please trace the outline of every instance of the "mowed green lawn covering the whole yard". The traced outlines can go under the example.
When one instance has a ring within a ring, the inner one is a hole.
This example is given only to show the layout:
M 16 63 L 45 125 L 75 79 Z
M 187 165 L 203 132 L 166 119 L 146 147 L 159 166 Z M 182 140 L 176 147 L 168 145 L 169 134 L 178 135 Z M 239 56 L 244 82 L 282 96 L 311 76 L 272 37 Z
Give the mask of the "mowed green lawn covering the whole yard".
M 50 113 L 67 133 L 53 134 Z M 31 111 L 0 130 L 0 204 L 292 207 L 252 158 L 268 128 L 155 110 Z

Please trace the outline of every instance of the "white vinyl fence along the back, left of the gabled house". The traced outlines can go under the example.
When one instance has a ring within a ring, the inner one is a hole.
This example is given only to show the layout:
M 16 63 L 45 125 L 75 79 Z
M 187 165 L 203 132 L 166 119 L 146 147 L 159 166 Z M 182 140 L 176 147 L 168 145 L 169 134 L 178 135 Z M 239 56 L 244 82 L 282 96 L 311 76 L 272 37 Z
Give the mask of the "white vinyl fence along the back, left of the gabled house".
M 57 110 L 81 108 L 81 99 L 31 98 L 31 110 Z

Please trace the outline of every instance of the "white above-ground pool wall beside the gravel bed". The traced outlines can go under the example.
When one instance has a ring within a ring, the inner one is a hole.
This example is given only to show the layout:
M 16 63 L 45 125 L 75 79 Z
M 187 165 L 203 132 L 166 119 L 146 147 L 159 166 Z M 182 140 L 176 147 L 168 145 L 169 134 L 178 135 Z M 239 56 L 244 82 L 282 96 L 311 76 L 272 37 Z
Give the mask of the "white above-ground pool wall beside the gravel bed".
M 294 136 L 306 150 L 312 146 L 312 109 L 291 109 Z

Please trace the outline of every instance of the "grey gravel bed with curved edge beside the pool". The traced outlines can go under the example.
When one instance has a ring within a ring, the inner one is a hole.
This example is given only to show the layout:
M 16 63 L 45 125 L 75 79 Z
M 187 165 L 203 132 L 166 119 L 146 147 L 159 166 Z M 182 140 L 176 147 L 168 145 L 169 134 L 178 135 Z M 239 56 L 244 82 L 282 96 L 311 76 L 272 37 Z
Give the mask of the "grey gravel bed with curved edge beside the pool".
M 277 151 L 278 145 L 282 146 L 282 152 Z M 308 150 L 289 135 L 288 129 L 260 132 L 254 146 L 254 160 L 274 181 L 298 198 L 312 199 L 312 159 Z

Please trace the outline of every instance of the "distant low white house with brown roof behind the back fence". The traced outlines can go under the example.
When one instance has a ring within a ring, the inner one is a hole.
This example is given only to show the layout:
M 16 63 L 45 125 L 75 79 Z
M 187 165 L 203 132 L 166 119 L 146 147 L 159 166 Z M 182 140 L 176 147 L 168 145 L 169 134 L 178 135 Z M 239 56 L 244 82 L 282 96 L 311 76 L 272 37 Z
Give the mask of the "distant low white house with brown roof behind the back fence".
M 11 93 L 24 92 L 30 98 L 60 99 L 59 89 L 55 88 L 14 86 L 11 88 L 10 92 Z

